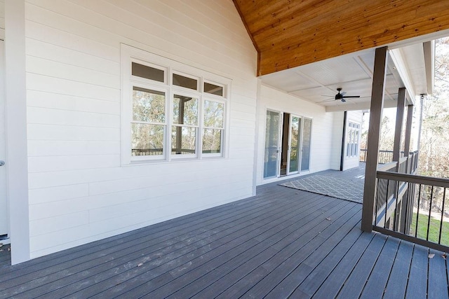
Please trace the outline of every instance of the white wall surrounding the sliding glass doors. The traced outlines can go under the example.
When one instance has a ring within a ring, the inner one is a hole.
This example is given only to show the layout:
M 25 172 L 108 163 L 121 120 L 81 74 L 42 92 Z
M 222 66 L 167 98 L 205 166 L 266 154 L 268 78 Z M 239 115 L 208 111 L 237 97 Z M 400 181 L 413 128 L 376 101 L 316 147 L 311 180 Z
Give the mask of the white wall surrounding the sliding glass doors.
M 257 99 L 257 185 L 276 181 L 273 179 L 264 180 L 264 143 L 265 143 L 265 118 L 267 109 L 293 113 L 297 116 L 304 116 L 312 119 L 311 132 L 311 153 L 310 153 L 310 172 L 320 172 L 330 169 L 335 165 L 335 159 L 340 159 L 340 155 L 335 155 L 335 146 L 333 145 L 333 124 L 334 113 L 326 113 L 323 106 L 312 104 L 297 97 L 288 95 L 285 92 L 275 90 L 269 86 L 262 85 L 260 95 Z M 341 124 L 342 130 L 343 124 Z M 340 131 L 341 131 L 340 130 Z M 340 148 L 341 151 L 341 134 Z M 340 162 L 340 160 L 338 160 Z

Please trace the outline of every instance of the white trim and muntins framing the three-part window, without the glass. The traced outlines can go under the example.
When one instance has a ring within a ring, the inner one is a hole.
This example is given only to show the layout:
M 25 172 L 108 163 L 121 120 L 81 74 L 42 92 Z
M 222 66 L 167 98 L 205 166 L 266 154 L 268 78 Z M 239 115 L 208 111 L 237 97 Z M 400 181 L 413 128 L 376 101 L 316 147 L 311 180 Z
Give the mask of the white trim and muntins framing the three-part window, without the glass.
M 164 83 L 151 81 L 145 78 L 131 75 L 131 62 L 138 62 L 156 69 L 163 69 Z M 198 79 L 198 91 L 182 88 L 172 84 L 172 74 L 180 74 L 189 78 Z M 213 95 L 203 92 L 203 83 L 212 83 L 223 87 L 223 96 Z M 152 158 L 151 156 L 132 156 L 131 155 L 131 123 L 133 116 L 132 92 L 133 83 L 142 88 L 165 91 L 168 90 L 166 98 L 166 127 L 164 132 L 164 155 L 163 158 Z M 149 53 L 132 46 L 121 43 L 121 165 L 142 165 L 147 162 L 172 162 L 172 161 L 197 161 L 202 159 L 228 158 L 229 157 L 229 110 L 232 80 L 216 74 L 212 74 L 187 64 L 170 60 L 166 57 Z M 173 95 L 180 93 L 182 95 L 194 95 L 199 98 L 199 128 L 196 137 L 196 155 L 171 155 L 171 126 L 173 116 Z M 203 141 L 203 100 L 210 99 L 215 102 L 225 104 L 223 115 L 223 134 L 221 153 L 202 153 Z

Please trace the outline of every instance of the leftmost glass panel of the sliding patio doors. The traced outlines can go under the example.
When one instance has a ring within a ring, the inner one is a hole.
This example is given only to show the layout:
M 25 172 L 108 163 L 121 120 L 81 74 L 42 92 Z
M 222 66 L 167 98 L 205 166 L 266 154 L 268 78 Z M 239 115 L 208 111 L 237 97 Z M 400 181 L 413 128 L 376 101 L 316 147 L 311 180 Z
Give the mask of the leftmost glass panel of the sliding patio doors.
M 276 177 L 279 165 L 279 120 L 280 113 L 267 110 L 265 129 L 264 179 Z

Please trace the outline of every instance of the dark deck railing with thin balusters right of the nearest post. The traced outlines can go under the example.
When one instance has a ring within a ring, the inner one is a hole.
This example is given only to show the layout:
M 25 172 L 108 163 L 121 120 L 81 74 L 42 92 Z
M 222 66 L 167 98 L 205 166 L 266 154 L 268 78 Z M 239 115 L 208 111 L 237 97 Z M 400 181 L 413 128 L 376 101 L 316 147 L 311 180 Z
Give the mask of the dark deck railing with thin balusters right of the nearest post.
M 378 167 L 373 230 L 449 252 L 449 179 L 416 168 L 417 152 Z

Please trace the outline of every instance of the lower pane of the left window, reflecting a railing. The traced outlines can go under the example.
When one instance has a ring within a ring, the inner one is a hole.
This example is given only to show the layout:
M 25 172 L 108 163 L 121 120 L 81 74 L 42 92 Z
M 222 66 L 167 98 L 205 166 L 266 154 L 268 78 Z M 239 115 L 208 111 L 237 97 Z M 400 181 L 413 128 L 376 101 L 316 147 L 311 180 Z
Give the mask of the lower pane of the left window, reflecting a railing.
M 132 155 L 162 155 L 163 125 L 132 124 Z

